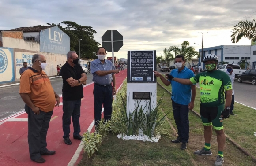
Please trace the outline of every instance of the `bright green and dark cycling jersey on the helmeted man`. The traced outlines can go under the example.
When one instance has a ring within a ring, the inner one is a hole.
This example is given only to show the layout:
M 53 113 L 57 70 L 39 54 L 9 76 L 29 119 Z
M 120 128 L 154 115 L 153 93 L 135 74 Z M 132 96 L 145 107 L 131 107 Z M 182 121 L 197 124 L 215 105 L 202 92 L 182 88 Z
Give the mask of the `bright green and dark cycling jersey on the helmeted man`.
M 224 89 L 232 90 L 230 77 L 224 71 L 202 72 L 190 78 L 193 84 L 199 82 L 200 101 L 205 107 L 220 106 L 225 103 Z

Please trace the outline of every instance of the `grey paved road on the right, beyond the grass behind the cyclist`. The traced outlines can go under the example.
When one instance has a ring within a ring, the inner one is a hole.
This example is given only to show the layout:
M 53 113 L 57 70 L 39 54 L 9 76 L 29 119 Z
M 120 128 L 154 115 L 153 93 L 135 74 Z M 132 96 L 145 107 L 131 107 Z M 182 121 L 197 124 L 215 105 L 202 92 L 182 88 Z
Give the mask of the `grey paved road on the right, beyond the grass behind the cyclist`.
M 157 68 L 159 71 L 159 68 Z M 160 72 L 165 74 L 165 72 Z M 167 72 L 169 74 L 169 72 Z M 199 86 L 199 85 L 198 85 Z M 235 101 L 256 108 L 256 86 L 251 82 L 234 82 Z

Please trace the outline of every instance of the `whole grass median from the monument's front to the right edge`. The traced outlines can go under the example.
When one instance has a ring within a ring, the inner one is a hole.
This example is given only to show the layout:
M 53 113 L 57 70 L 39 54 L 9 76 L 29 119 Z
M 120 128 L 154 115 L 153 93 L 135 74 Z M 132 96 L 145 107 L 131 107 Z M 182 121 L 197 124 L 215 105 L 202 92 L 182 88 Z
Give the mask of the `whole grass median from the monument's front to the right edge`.
M 171 86 L 166 88 L 171 91 Z M 157 96 L 162 96 L 164 92 L 165 95 L 163 96 L 161 108 L 164 112 L 171 111 L 172 103 L 170 94 L 165 89 L 162 89 L 160 85 L 157 85 Z M 197 89 L 194 108 L 195 111 L 199 112 L 199 106 L 199 89 Z M 243 113 L 238 109 L 244 110 Z M 245 118 L 253 116 L 254 114 L 253 111 L 249 112 L 248 109 L 250 108 L 242 105 L 238 106 L 236 103 L 234 112 L 238 114 L 238 116 L 231 117 L 227 120 L 225 119 L 224 129 L 226 134 L 239 143 L 243 148 L 246 148 L 247 150 L 250 148 L 254 151 L 253 153 L 255 153 L 256 145 L 252 144 L 254 142 L 252 140 L 252 138 L 254 138 L 252 135 L 253 132 L 251 133 L 250 130 L 246 129 L 250 128 L 248 126 L 253 124 L 251 123 L 253 118 Z M 248 114 L 244 114 L 245 111 Z M 245 120 L 242 120 L 243 118 L 245 118 Z M 172 111 L 170 114 L 168 114 L 168 119 L 177 131 L 175 122 L 173 120 Z M 250 122 L 245 122 L 247 120 Z M 180 150 L 181 144 L 170 143 L 170 140 L 174 139 L 176 136 L 174 131 L 170 128 L 169 123 L 166 123 L 166 125 L 169 127 L 171 135 L 169 138 L 160 139 L 158 143 L 137 140 L 121 140 L 117 138 L 117 134 L 113 135 L 109 133 L 105 140 L 103 140 L 100 148 L 98 148 L 96 154 L 89 159 L 87 154 L 84 154 L 83 159 L 78 166 L 193 166 L 194 164 L 192 163 L 192 159 L 196 161 L 198 166 L 213 166 L 218 153 L 215 133 L 213 133 L 211 140 L 211 150 L 213 155 L 193 155 L 194 151 L 201 149 L 204 145 L 203 125 L 201 119 L 192 112 L 189 113 L 189 121 L 190 138 L 188 143 L 188 151 Z M 239 137 L 241 135 L 242 137 Z M 250 137 L 250 135 L 252 135 L 252 137 Z M 244 140 L 244 144 L 242 144 L 242 139 Z M 251 142 L 251 144 L 249 144 L 247 139 Z M 248 147 L 244 146 L 245 144 L 248 144 Z M 250 152 L 252 153 L 252 151 Z M 229 141 L 226 141 L 224 159 L 225 166 L 256 165 L 256 163 L 253 162 L 250 157 L 244 155 Z

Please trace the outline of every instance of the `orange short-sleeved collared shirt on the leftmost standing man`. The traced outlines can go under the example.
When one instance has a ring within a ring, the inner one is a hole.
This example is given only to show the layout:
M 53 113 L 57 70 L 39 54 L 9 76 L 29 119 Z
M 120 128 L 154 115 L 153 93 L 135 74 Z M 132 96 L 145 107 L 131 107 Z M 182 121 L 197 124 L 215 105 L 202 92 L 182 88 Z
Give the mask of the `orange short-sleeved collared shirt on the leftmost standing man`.
M 20 77 L 19 93 L 27 93 L 41 111 L 53 111 L 56 99 L 48 76 L 44 71 L 28 68 Z

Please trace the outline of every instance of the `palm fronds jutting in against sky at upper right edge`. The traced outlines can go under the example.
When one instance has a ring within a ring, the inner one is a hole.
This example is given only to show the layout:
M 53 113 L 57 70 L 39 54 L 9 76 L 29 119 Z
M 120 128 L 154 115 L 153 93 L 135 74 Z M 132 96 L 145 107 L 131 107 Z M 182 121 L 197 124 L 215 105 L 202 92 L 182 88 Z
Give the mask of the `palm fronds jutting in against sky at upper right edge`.
M 242 37 L 246 37 L 248 39 L 252 39 L 252 41 L 256 41 L 256 22 L 253 19 L 252 22 L 240 21 L 236 26 L 234 26 L 231 41 L 232 43 L 237 43 Z

